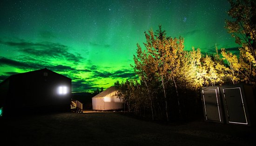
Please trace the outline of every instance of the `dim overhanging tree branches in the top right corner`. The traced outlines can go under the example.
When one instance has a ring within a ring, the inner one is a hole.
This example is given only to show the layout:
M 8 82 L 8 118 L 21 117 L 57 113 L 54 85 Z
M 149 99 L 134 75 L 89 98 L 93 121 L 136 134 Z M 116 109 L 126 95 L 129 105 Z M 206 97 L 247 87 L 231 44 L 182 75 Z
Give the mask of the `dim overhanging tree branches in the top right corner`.
M 237 44 L 246 44 L 256 59 L 256 0 L 228 0 L 232 20 L 226 20 L 226 28 Z

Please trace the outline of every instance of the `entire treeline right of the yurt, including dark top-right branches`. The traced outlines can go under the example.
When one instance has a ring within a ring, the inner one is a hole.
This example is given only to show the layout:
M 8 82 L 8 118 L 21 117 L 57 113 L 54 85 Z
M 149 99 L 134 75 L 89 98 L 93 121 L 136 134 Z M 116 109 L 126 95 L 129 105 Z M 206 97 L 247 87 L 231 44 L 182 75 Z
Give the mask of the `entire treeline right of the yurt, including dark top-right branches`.
M 256 85 L 256 1 L 229 0 L 228 32 L 240 44 L 240 55 L 216 47 L 215 54 L 184 50 L 184 39 L 171 38 L 159 29 L 145 32 L 145 49 L 137 44 L 134 68 L 137 79 L 116 82 L 127 110 L 152 120 L 187 120 L 202 116 L 203 86 L 248 83 Z

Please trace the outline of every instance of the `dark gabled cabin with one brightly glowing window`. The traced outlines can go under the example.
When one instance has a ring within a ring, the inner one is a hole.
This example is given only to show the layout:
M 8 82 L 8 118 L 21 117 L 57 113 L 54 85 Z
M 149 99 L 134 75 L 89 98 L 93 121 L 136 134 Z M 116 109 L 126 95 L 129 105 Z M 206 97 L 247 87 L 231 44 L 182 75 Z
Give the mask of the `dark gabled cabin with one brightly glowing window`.
M 70 112 L 71 79 L 47 68 L 9 76 L 0 83 L 3 115 Z

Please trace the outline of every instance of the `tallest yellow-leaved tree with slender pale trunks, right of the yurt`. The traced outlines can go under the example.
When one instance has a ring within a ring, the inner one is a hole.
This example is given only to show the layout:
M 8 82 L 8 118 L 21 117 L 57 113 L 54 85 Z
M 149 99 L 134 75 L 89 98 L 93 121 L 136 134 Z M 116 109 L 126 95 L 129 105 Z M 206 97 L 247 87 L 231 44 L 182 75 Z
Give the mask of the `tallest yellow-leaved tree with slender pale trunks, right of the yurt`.
M 183 38 L 166 37 L 165 31 L 162 31 L 161 26 L 156 31 L 155 35 L 152 30 L 145 33 L 147 43 L 144 43 L 148 51 L 148 60 L 151 63 L 151 71 L 155 72 L 155 77 L 159 79 L 162 85 L 164 95 L 165 111 L 167 121 L 168 117 L 168 97 L 166 86 L 169 81 L 173 81 L 178 97 L 177 85 L 175 78 L 180 69 L 180 61 L 184 48 Z M 179 99 L 178 99 L 179 104 Z

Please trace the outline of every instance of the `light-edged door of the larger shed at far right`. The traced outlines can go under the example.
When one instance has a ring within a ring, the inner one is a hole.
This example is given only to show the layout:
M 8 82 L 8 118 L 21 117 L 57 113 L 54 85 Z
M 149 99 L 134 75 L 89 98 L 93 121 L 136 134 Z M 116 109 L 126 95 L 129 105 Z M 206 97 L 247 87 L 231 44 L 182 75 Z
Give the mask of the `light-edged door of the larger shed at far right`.
M 223 89 L 230 123 L 248 124 L 243 105 L 241 88 Z

